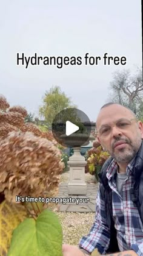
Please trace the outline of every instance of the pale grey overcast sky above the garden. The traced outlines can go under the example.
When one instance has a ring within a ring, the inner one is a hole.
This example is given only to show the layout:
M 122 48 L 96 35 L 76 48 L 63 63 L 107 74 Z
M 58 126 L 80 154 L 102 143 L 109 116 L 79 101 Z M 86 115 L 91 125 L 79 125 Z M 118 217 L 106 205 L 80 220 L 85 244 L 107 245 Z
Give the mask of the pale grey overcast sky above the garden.
M 0 94 L 38 115 L 46 90 L 59 85 L 91 121 L 107 102 L 115 70 L 142 65 L 140 0 L 1 1 Z M 16 65 L 16 53 L 81 56 L 82 65 Z M 84 65 L 84 55 L 125 56 L 127 65 Z

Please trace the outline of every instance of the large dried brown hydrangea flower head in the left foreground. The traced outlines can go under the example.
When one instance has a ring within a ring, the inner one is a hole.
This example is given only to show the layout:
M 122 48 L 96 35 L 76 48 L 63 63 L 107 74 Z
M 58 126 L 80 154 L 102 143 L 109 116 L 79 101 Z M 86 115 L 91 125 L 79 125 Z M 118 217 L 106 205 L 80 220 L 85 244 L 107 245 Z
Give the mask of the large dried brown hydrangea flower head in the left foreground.
M 0 141 L 0 193 L 9 202 L 16 195 L 55 196 L 63 168 L 61 151 L 45 138 L 11 132 Z

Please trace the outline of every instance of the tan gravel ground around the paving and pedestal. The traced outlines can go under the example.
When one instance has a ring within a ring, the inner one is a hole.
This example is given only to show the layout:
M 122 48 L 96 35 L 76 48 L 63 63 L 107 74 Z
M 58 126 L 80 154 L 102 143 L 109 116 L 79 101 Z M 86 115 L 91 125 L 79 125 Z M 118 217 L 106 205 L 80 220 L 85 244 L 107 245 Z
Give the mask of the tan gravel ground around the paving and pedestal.
M 68 181 L 69 172 L 61 175 L 60 182 Z M 85 182 L 95 183 L 95 177 L 85 174 Z M 95 213 L 56 212 L 62 224 L 63 243 L 78 245 L 83 235 L 87 235 L 95 219 Z

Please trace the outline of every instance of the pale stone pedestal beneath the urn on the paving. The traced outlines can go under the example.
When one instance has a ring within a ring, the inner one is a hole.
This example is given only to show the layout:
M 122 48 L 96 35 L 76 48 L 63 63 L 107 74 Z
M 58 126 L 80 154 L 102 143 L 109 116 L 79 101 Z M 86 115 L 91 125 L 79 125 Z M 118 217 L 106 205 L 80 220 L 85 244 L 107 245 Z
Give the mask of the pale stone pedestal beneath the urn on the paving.
M 74 148 L 74 154 L 69 158 L 70 177 L 68 180 L 68 194 L 87 194 L 85 183 L 85 165 L 87 162 L 80 153 L 80 148 Z

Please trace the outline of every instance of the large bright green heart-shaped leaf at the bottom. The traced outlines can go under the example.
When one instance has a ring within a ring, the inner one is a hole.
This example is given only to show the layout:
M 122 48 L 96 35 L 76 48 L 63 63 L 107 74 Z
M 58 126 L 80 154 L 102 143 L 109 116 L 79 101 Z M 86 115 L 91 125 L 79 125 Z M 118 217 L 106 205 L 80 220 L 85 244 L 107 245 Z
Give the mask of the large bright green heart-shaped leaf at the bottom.
M 44 210 L 14 230 L 8 256 L 62 256 L 62 227 L 58 216 Z

